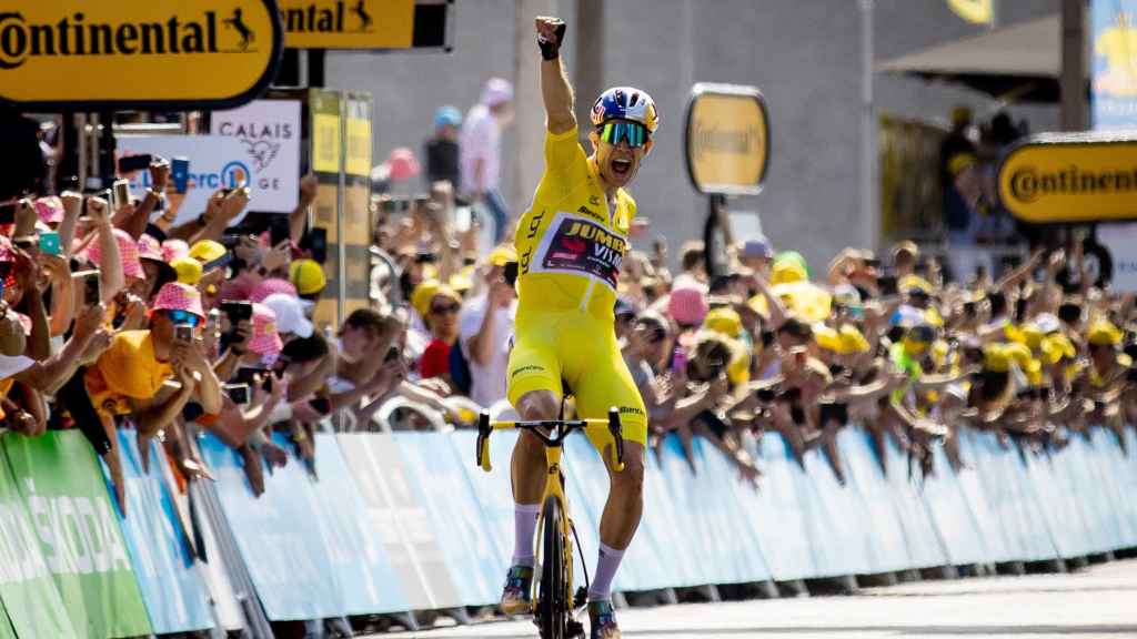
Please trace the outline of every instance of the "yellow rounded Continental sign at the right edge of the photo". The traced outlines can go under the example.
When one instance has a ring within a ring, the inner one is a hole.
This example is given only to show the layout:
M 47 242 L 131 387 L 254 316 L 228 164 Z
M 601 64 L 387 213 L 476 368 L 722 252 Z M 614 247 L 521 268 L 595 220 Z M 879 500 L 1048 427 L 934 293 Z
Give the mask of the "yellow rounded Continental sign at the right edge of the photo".
M 1030 138 L 1003 158 L 998 194 L 1036 224 L 1137 218 L 1137 138 Z

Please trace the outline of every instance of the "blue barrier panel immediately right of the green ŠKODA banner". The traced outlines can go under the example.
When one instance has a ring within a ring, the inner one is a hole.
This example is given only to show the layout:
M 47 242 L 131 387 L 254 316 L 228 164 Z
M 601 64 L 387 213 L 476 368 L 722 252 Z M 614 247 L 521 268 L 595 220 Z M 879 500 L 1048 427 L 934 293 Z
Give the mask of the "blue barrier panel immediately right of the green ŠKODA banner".
M 150 472 L 142 470 L 134 430 L 118 431 L 128 515 L 123 538 L 157 634 L 213 628 L 209 596 L 193 565 L 186 534 L 159 465 L 166 453 L 150 440 Z M 106 472 L 106 471 L 105 471 Z

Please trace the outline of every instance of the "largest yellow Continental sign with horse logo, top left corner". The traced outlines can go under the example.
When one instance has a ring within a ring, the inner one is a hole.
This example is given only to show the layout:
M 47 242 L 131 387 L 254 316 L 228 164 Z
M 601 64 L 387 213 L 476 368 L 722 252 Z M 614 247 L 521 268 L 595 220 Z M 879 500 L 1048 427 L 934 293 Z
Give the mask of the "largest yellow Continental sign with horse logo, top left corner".
M 268 86 L 282 40 L 274 0 L 17 2 L 0 9 L 0 101 L 234 107 Z

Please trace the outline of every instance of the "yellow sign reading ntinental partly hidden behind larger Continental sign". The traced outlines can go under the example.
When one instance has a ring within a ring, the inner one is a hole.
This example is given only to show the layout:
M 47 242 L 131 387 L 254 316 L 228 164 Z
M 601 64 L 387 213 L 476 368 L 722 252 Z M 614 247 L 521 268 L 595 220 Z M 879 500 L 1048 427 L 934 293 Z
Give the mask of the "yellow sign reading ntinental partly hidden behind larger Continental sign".
M 409 49 L 414 0 L 279 0 L 293 49 Z

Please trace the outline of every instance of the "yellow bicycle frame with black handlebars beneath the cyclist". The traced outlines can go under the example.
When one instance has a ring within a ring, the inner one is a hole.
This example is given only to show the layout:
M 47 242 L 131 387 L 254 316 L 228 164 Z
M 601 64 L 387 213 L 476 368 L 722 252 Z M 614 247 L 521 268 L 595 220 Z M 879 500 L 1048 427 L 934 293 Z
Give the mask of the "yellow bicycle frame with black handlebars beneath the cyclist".
M 620 424 L 619 410 L 611 408 L 608 410 L 607 420 L 546 420 L 533 422 L 490 421 L 489 413 L 483 410 L 478 418 L 478 465 L 481 466 L 483 471 L 490 472 L 493 470 L 490 464 L 490 434 L 492 434 L 496 430 L 512 429 L 528 430 L 545 445 L 545 491 L 541 495 L 540 504 L 545 504 L 550 497 L 557 500 L 561 505 L 561 521 L 557 522 L 557 526 L 561 530 L 562 539 L 573 539 L 575 537 L 575 532 L 573 531 L 572 518 L 568 514 L 568 498 L 564 492 L 564 475 L 561 472 L 561 456 L 564 440 L 576 430 L 605 429 L 608 434 L 612 435 L 615 443 L 615 446 L 609 448 L 612 454 L 612 467 L 616 472 L 623 471 L 624 439 L 623 430 Z M 543 516 L 545 514 L 542 509 L 541 517 Z M 542 524 L 543 521 L 539 520 L 537 530 L 542 530 Z M 549 559 L 546 558 L 546 561 Z M 565 569 L 564 574 L 567 580 L 566 590 L 571 598 L 574 592 L 572 583 L 573 551 L 571 542 L 564 545 L 564 557 L 562 557 L 561 561 Z M 531 599 L 532 612 L 536 615 L 539 601 L 537 597 L 532 597 Z M 567 612 L 571 614 L 574 605 L 571 603 L 568 608 L 570 611 Z

